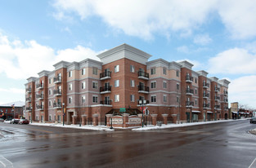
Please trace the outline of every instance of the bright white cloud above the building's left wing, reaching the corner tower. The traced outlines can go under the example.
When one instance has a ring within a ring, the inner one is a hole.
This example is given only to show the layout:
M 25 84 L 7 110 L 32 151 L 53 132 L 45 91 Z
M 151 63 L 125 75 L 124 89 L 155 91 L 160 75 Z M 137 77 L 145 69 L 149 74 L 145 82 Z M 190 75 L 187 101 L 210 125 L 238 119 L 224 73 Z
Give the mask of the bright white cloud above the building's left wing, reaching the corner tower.
M 35 41 L 10 41 L 7 36 L 0 33 L 0 73 L 7 77 L 20 79 L 31 76 L 38 77 L 42 70 L 53 70 L 57 61 L 81 61 L 87 58 L 99 60 L 92 51 L 83 46 L 74 49 L 54 51 L 49 46 L 43 46 Z

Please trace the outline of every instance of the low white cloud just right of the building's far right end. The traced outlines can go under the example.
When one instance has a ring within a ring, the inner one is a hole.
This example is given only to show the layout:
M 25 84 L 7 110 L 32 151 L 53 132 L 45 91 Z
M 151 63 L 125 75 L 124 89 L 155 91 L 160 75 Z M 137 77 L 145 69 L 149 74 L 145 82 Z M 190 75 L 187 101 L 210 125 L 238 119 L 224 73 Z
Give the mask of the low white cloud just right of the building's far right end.
M 256 76 L 239 77 L 231 80 L 229 84 L 229 102 L 239 102 L 240 104 L 249 104 L 256 108 Z

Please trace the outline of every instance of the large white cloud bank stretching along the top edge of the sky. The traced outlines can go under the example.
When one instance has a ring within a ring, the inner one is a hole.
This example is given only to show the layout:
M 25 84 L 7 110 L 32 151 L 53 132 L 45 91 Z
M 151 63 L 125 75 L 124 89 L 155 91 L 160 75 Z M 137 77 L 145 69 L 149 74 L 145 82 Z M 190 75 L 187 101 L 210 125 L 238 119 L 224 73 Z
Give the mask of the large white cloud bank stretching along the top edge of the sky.
M 213 13 L 220 15 L 233 37 L 256 36 L 256 3 L 251 0 L 56 0 L 53 7 L 57 20 L 96 15 L 112 28 L 146 40 L 154 38 L 153 33 L 191 33 Z

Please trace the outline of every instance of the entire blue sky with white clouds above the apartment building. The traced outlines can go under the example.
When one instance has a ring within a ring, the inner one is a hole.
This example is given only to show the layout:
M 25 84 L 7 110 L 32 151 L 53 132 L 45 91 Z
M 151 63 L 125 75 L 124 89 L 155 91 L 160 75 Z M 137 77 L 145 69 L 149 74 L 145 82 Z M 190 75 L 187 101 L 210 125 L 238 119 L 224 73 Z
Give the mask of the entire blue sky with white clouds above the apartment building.
M 0 104 L 60 60 L 128 43 L 226 78 L 229 101 L 256 108 L 255 0 L 0 0 Z

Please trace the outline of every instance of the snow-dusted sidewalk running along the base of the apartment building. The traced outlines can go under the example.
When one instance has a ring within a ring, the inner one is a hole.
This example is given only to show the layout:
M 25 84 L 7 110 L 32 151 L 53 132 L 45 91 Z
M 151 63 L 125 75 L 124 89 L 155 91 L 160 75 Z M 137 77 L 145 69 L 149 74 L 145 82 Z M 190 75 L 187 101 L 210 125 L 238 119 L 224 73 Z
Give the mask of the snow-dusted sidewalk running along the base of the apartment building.
M 129 127 L 129 128 L 123 128 L 123 127 L 115 127 L 114 129 L 110 129 L 110 126 L 92 126 L 92 125 L 86 125 L 86 126 L 79 126 L 79 125 L 62 125 L 62 124 L 54 124 L 54 123 L 30 123 L 30 125 L 34 126 L 56 126 L 56 127 L 62 127 L 62 128 L 75 128 L 75 129 L 84 129 L 84 130 L 106 130 L 106 131 L 114 131 L 114 130 L 159 130 L 159 129 L 166 129 L 166 128 L 177 128 L 177 127 L 184 127 L 184 126 L 197 126 L 197 125 L 203 125 L 203 124 L 212 124 L 212 123 L 218 123 L 218 122 L 239 122 L 242 120 L 249 120 L 249 118 L 245 119 L 239 119 L 239 120 L 218 120 L 218 121 L 210 121 L 210 122 L 191 122 L 191 123 L 182 123 L 182 124 L 168 124 L 168 125 L 162 125 L 162 126 L 144 126 L 142 127 Z M 256 129 L 254 129 L 256 131 Z

